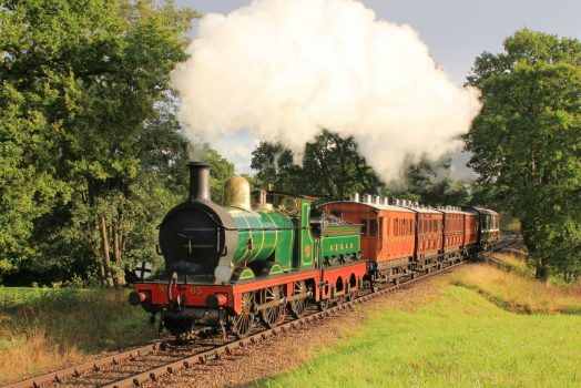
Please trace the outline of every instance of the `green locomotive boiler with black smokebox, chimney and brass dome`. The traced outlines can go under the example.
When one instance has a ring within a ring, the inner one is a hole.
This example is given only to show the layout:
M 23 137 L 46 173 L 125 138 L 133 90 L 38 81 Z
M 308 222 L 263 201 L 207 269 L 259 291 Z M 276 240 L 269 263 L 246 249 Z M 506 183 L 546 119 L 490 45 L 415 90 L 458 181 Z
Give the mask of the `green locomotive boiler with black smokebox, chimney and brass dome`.
M 253 211 L 248 183 L 239 176 L 227 181 L 225 206 L 220 206 L 210 200 L 210 166 L 192 163 L 190 169 L 190 200 L 160 226 L 166 276 L 227 283 L 300 266 L 289 249 L 295 227 L 288 215 L 266 203 Z

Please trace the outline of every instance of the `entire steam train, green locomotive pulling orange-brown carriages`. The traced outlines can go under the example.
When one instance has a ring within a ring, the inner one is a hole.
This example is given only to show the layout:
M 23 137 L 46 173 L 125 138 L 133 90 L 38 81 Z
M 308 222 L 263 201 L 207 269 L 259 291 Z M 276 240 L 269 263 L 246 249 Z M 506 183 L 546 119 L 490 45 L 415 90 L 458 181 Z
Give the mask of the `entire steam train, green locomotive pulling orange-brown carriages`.
M 239 176 L 226 182 L 221 206 L 210 198 L 210 166 L 188 167 L 188 198 L 160 226 L 165 269 L 142 276 L 129 296 L 174 336 L 214 327 L 243 338 L 257 320 L 275 327 L 310 304 L 326 309 L 498 239 L 498 214 L 483 208 L 389 205 L 377 196 L 314 207 L 305 195 L 251 193 Z

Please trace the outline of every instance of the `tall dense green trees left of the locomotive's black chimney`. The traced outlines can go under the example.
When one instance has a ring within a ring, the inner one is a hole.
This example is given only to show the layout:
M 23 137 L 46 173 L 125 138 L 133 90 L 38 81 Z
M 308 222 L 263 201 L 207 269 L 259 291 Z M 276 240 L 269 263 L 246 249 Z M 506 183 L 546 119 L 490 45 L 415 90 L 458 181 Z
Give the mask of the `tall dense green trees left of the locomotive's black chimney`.
M 0 272 L 90 270 L 98 236 L 106 267 L 115 236 L 159 216 L 133 212 L 137 193 L 175 200 L 164 173 L 185 142 L 157 114 L 194 17 L 171 1 L 0 1 Z

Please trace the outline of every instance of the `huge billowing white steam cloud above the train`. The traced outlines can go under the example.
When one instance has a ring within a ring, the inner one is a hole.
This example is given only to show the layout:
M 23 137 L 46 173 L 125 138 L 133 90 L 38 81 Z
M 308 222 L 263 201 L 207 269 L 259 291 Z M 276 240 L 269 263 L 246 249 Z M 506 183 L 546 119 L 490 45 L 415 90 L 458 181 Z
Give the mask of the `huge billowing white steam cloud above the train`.
M 211 13 L 187 52 L 172 80 L 192 140 L 247 127 L 300 153 L 326 127 L 353 135 L 386 181 L 406 157 L 458 150 L 480 110 L 477 91 L 456 86 L 416 31 L 355 0 L 255 0 Z

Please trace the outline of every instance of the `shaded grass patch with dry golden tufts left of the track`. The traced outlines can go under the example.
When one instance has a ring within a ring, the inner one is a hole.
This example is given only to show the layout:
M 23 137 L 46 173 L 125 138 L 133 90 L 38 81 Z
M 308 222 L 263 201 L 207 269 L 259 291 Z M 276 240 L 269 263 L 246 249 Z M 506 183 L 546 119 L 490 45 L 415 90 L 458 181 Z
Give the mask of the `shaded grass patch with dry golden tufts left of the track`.
M 0 384 L 155 336 L 126 290 L 0 287 Z

